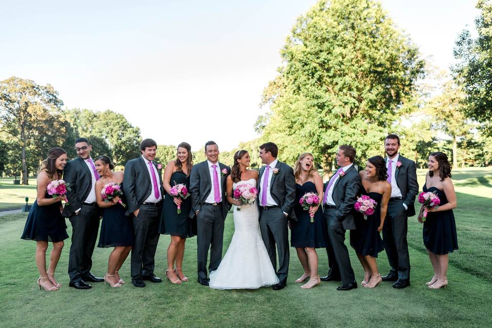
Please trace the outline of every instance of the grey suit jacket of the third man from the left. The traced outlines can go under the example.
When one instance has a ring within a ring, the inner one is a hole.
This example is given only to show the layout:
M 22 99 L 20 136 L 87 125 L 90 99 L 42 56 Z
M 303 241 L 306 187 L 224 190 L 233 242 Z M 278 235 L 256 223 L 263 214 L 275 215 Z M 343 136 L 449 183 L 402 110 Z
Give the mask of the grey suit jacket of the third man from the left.
M 157 169 L 156 164 L 154 163 Z M 160 194 L 164 197 L 164 187 L 162 187 L 162 177 L 159 176 Z M 152 182 L 149 169 L 142 156 L 129 160 L 125 166 L 125 176 L 123 178 L 123 193 L 127 198 L 127 215 L 140 208 L 140 205 L 152 193 Z

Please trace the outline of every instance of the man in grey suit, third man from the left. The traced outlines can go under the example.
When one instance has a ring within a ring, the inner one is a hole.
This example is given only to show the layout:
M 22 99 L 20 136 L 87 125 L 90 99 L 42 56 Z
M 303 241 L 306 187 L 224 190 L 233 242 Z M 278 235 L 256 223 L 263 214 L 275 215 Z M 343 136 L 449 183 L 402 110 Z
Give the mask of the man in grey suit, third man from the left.
M 159 218 L 164 192 L 162 178 L 153 162 L 156 150 L 157 144 L 154 140 L 143 140 L 140 144 L 142 156 L 127 162 L 123 179 L 127 215 L 133 216 L 131 275 L 135 287 L 145 287 L 144 280 L 162 281 L 154 275 L 154 257 L 159 241 Z

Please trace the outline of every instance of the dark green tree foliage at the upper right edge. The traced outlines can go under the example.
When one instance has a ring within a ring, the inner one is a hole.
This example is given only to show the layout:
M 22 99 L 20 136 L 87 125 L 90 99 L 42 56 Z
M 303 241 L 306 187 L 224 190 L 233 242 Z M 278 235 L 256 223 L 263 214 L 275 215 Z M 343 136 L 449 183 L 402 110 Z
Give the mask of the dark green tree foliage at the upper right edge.
M 458 63 L 453 67 L 457 84 L 465 93 L 465 114 L 479 121 L 492 136 L 492 1 L 479 0 L 475 19 L 477 37 L 464 30 L 454 50 Z

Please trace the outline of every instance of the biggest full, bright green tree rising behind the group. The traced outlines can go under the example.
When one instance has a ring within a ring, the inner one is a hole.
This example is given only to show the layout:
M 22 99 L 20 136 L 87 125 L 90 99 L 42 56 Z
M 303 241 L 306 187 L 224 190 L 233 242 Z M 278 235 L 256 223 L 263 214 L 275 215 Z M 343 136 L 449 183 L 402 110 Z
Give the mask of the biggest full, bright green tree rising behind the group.
M 281 56 L 261 103 L 271 112 L 257 131 L 291 164 L 312 152 L 325 174 L 340 144 L 362 157 L 379 149 L 424 67 L 416 46 L 371 0 L 318 1 L 297 19 Z

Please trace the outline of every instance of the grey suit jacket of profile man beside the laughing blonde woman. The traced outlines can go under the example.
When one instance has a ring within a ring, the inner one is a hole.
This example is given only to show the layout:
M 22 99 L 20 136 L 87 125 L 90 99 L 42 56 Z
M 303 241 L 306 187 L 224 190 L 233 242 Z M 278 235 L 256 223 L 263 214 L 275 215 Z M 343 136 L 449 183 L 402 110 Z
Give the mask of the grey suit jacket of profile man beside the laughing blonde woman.
M 324 190 L 329 181 L 326 181 Z M 342 227 L 345 230 L 354 230 L 354 204 L 357 201 L 359 189 L 361 187 L 361 179 L 359 172 L 357 172 L 354 165 L 352 165 L 345 175 L 339 177 L 333 187 L 332 198 L 335 201 L 337 210 L 335 211 L 335 217 L 342 222 Z

